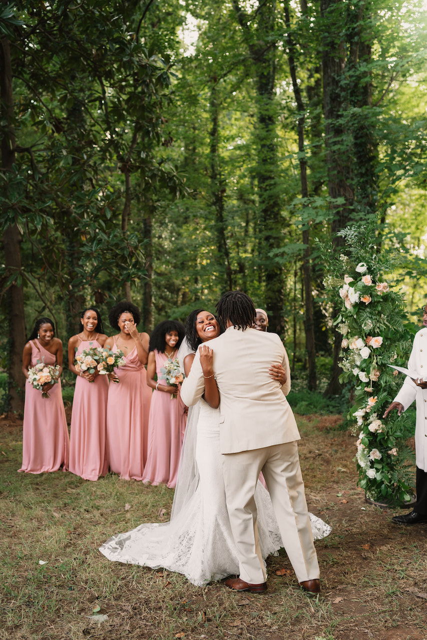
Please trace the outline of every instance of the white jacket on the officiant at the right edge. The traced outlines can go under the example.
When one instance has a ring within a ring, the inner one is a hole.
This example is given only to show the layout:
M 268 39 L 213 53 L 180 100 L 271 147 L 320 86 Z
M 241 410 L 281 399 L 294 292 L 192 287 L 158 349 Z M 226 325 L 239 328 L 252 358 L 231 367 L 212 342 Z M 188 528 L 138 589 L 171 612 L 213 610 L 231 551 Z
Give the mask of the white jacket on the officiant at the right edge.
M 419 378 L 427 378 L 427 327 L 415 333 L 414 344 L 408 360 L 408 369 L 417 372 Z M 427 389 L 417 387 L 406 376 L 405 381 L 394 398 L 403 404 L 403 410 L 416 401 L 417 419 L 415 422 L 415 460 L 417 467 L 427 471 Z

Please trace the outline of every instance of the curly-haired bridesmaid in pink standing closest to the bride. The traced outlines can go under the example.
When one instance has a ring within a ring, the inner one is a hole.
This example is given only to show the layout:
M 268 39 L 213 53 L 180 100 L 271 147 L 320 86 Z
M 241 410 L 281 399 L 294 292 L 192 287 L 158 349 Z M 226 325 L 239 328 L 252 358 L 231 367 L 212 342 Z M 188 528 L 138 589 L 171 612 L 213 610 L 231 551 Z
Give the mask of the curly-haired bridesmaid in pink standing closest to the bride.
M 171 489 L 176 486 L 187 418 L 179 388 L 168 385 L 160 370 L 168 358 L 176 358 L 184 334 L 185 328 L 180 322 L 165 320 L 158 324 L 150 338 L 147 365 L 147 385 L 154 391 L 148 421 L 144 483 L 165 483 Z

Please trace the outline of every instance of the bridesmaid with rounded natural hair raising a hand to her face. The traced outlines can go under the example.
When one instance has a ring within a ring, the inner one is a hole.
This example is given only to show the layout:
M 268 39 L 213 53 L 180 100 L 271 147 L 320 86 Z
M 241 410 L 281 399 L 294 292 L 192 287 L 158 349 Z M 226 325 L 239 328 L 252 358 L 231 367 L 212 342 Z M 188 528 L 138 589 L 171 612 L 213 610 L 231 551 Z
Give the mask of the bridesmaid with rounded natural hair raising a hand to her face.
M 110 374 L 107 403 L 107 455 L 110 470 L 123 480 L 142 480 L 147 459 L 147 424 L 151 392 L 146 384 L 149 336 L 138 333 L 140 313 L 130 302 L 119 302 L 108 314 L 120 333 L 105 346 L 122 351 L 126 364 Z

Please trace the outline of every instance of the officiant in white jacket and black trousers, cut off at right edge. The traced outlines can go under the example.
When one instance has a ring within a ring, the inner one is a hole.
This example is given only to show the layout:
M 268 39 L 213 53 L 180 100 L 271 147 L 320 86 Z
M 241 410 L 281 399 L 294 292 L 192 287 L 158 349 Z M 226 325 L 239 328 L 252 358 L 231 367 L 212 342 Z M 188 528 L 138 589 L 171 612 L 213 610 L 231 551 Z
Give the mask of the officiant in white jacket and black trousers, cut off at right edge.
M 383 417 L 393 409 L 401 415 L 415 400 L 417 419 L 415 422 L 415 462 L 417 472 L 415 488 L 417 502 L 414 510 L 406 515 L 395 516 L 395 524 L 420 524 L 427 522 L 427 305 L 423 307 L 423 328 L 415 333 L 408 369 L 417 374 L 413 380 L 406 376 L 405 381 L 394 401 L 385 410 Z

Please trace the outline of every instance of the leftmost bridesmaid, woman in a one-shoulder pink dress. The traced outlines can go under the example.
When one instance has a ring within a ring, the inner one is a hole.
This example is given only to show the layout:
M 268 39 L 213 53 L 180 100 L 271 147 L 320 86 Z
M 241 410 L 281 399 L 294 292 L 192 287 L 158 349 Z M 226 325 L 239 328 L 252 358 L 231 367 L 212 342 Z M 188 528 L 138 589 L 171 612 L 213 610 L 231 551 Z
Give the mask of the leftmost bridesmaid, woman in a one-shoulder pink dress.
M 41 474 L 67 468 L 69 436 L 63 408 L 61 381 L 43 387 L 48 398 L 35 389 L 28 380 L 28 369 L 38 362 L 59 366 L 62 374 L 62 342 L 54 337 L 50 318 L 42 317 L 35 323 L 33 333 L 24 346 L 22 372 L 25 383 L 24 425 L 22 438 L 22 467 L 19 471 Z

